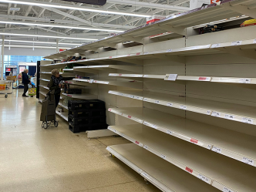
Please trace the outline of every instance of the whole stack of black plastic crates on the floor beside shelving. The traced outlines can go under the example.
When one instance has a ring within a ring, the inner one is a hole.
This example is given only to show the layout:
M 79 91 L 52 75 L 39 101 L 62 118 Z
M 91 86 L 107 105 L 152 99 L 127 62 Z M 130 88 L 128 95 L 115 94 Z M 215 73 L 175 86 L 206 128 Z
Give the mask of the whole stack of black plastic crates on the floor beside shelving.
M 72 133 L 87 130 L 104 130 L 106 125 L 106 106 L 98 99 L 69 101 L 69 130 Z

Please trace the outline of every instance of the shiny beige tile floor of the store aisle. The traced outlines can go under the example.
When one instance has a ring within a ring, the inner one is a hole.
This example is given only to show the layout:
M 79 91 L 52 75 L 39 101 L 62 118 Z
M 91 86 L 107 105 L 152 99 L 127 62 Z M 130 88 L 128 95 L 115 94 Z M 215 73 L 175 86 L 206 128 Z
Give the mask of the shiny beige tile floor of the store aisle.
M 0 95 L 0 191 L 158 192 L 106 146 L 128 143 L 118 137 L 87 140 L 59 119 L 41 128 L 41 104 L 22 92 Z

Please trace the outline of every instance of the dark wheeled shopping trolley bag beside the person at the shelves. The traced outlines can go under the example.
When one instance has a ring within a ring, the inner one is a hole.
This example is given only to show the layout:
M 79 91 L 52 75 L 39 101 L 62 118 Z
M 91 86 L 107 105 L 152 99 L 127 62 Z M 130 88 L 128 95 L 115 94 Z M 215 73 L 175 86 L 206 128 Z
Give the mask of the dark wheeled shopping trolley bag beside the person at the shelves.
M 48 126 L 51 125 L 52 122 L 54 122 L 54 126 L 59 126 L 58 121 L 56 121 L 56 106 L 55 106 L 55 99 L 54 95 L 50 91 L 47 93 L 47 96 L 42 101 L 42 110 L 41 110 L 41 116 L 40 121 L 42 121 L 42 127 L 47 129 Z

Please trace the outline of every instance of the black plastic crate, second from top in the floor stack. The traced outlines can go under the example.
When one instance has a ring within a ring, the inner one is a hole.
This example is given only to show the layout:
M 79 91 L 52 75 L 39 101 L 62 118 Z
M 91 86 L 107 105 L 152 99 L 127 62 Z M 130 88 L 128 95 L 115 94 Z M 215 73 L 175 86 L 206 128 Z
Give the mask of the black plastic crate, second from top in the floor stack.
M 71 118 L 106 116 L 106 109 L 69 110 L 69 116 Z

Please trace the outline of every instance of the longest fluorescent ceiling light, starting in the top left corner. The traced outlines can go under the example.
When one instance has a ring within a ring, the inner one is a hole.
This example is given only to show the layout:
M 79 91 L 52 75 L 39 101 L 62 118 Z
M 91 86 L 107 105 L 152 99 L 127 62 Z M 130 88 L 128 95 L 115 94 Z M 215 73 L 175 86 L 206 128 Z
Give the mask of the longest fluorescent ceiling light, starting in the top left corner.
M 80 10 L 83 12 L 100 12 L 100 13 L 106 13 L 106 14 L 114 14 L 114 15 L 129 15 L 129 16 L 135 16 L 135 17 L 151 17 L 151 15 L 147 14 L 137 14 L 137 13 L 129 13 L 129 12 L 120 12 L 120 11 L 109 11 L 104 9 L 97 9 L 97 8 L 85 8 L 80 6 L 72 6 L 72 5 L 61 5 L 58 3 L 49 3 L 49 2 L 35 2 L 35 1 L 16 1 L 16 0 L 0 0 L 0 2 L 6 2 L 6 3 L 14 3 L 14 4 L 22 4 L 22 5 L 33 5 L 33 6 L 39 6 L 39 7 L 49 7 L 49 8 L 65 8 L 65 9 L 72 9 L 72 10 Z

